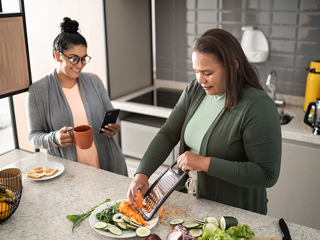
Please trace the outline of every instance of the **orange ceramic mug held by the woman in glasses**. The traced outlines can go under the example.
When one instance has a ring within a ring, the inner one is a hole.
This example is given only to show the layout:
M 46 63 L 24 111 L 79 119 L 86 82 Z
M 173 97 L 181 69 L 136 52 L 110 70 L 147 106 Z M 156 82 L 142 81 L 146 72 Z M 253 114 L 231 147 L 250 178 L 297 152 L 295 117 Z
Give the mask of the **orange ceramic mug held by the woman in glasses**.
M 88 149 L 92 146 L 93 143 L 93 130 L 89 125 L 81 125 L 76 128 L 73 128 L 67 133 L 72 133 L 75 137 L 75 141 L 72 141 L 74 144 L 79 146 L 81 149 Z

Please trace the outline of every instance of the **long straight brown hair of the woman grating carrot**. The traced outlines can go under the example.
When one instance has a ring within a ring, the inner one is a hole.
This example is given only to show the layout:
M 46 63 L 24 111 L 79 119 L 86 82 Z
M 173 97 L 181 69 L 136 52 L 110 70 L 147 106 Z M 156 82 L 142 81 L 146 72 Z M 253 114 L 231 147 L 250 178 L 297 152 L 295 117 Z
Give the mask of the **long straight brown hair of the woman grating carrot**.
M 245 85 L 263 89 L 259 82 L 256 67 L 245 56 L 238 39 L 222 29 L 211 29 L 201 37 L 194 39 L 192 52 L 213 55 L 225 67 L 225 101 L 224 110 L 230 111 L 242 97 Z M 239 67 L 236 66 L 236 62 Z

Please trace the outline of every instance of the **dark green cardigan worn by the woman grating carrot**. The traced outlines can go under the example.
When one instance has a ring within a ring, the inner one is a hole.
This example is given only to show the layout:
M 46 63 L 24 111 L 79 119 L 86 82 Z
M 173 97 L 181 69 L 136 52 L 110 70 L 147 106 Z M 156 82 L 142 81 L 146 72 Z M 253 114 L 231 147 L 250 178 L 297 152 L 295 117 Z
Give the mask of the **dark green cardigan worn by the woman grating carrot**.
M 180 154 L 188 151 L 184 130 L 205 95 L 201 85 L 192 80 L 136 173 L 151 176 L 179 141 Z M 211 161 L 208 173 L 197 172 L 196 196 L 267 214 L 266 188 L 279 177 L 281 150 L 279 115 L 272 99 L 263 90 L 243 88 L 236 107 L 220 112 L 204 136 L 200 155 L 211 157 Z M 185 191 L 185 180 L 176 190 Z

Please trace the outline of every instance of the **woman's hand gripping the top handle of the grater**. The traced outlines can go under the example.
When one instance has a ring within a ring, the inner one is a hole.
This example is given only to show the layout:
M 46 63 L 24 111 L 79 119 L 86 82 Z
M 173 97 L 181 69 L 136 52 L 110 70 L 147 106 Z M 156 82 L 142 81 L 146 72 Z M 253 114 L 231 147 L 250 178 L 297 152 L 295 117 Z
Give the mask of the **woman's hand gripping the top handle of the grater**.
M 208 173 L 210 165 L 210 157 L 203 157 L 198 154 L 186 151 L 181 154 L 177 159 L 177 165 L 182 171 L 205 171 Z

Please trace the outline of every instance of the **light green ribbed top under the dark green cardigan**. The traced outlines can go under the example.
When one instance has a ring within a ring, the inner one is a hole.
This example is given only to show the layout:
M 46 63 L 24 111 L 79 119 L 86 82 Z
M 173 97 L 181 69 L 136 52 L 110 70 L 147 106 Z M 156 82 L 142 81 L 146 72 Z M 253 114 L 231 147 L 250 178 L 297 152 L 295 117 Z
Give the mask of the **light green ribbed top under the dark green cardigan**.
M 199 154 L 200 146 L 208 128 L 224 108 L 225 92 L 220 95 L 206 95 L 192 115 L 184 132 L 184 141 L 189 151 Z

